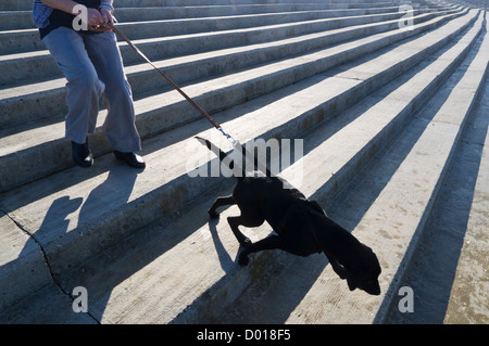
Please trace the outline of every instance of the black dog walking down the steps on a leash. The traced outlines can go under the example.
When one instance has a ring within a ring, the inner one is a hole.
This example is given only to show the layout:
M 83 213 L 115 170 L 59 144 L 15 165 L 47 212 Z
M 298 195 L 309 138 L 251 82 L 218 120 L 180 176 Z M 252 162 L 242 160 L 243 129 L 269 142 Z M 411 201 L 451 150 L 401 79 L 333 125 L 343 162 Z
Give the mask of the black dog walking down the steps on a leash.
M 198 138 L 221 161 L 227 157 L 210 141 Z M 230 162 L 231 168 L 234 163 Z M 216 209 L 237 204 L 240 216 L 228 217 L 227 221 L 241 244 L 239 264 L 246 266 L 248 255 L 262 249 L 279 248 L 298 256 L 313 253 L 326 255 L 335 272 L 347 279 L 351 291 L 361 289 L 369 294 L 380 294 L 378 275 L 380 265 L 377 256 L 350 232 L 326 216 L 317 202 L 310 201 L 287 181 L 272 177 L 269 171 L 261 177 L 237 177 L 233 195 L 218 197 L 209 209 L 211 218 L 217 218 Z M 276 235 L 269 235 L 252 243 L 239 231 L 239 226 L 259 227 L 267 221 Z

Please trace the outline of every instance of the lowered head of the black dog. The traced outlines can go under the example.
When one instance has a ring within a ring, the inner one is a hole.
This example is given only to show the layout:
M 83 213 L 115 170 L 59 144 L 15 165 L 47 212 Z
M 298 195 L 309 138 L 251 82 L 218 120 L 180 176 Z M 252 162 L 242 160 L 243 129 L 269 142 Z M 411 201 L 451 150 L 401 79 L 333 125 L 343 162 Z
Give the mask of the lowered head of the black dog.
M 362 244 L 362 254 L 354 264 L 347 268 L 347 283 L 350 291 L 360 289 L 368 294 L 379 295 L 378 275 L 380 265 L 372 248 Z

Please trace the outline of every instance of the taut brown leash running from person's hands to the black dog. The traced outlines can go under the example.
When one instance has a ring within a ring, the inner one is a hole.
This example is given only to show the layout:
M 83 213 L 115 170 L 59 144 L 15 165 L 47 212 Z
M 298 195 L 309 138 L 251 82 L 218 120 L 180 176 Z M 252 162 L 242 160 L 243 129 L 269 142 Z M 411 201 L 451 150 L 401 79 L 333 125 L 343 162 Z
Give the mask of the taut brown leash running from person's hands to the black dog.
M 200 112 L 200 114 L 206 118 L 224 137 L 226 137 L 226 139 L 233 144 L 233 148 L 235 149 L 240 149 L 241 153 L 243 153 L 244 155 L 244 159 L 250 159 L 250 157 L 254 157 L 254 155 L 251 155 L 250 152 L 242 146 L 238 140 L 234 139 L 229 133 L 226 133 L 224 131 L 224 129 L 221 127 L 220 124 L 217 124 L 216 120 L 214 120 L 214 118 L 212 116 L 209 115 L 208 112 L 205 112 L 196 101 L 193 101 L 187 93 L 184 92 L 184 90 L 181 90 L 168 76 L 166 76 L 160 68 L 158 68 L 149 59 L 148 56 L 146 56 L 140 50 L 139 48 L 137 48 L 123 33 L 121 33 L 120 29 L 117 29 L 112 23 L 108 23 L 106 27 L 109 27 L 110 29 L 112 29 L 116 35 L 118 35 L 124 41 L 127 42 L 127 44 L 129 44 L 130 48 L 133 48 L 142 59 L 145 59 L 145 61 L 150 64 L 160 75 L 163 76 L 163 78 L 166 79 L 166 81 L 168 81 L 173 88 L 175 88 L 176 91 L 178 91 L 188 102 L 190 102 L 190 104 Z M 237 164 L 237 163 L 235 163 Z M 253 163 L 256 164 L 258 169 L 260 169 L 263 174 L 266 175 L 266 172 L 268 172 L 268 169 L 263 166 L 263 164 L 260 163 L 260 161 Z

